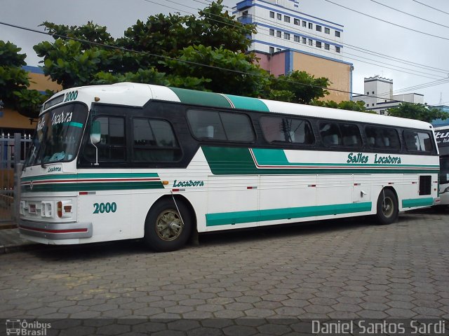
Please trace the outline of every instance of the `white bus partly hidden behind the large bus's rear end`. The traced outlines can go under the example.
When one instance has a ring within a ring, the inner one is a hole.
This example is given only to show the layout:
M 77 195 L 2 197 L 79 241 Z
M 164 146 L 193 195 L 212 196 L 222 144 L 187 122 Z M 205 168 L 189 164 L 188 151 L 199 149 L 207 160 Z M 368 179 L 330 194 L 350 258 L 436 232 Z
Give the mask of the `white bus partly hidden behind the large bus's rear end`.
M 440 185 L 438 205 L 449 204 L 449 125 L 435 127 L 435 138 L 440 153 Z

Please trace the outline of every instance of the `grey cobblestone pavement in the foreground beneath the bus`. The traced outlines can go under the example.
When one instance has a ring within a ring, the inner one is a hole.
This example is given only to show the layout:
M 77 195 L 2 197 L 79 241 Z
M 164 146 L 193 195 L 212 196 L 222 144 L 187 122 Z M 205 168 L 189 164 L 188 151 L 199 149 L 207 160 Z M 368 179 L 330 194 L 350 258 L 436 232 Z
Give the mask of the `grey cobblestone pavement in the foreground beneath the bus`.
M 387 226 L 353 218 L 200 243 L 171 253 L 121 241 L 0 255 L 0 318 L 449 318 L 449 214 L 441 211 L 401 214 Z

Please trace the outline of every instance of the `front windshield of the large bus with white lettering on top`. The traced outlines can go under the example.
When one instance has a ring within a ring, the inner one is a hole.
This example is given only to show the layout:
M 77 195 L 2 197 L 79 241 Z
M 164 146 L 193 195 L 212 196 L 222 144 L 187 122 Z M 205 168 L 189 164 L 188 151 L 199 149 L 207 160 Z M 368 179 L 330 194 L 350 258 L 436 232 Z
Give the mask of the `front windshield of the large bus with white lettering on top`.
M 39 116 L 25 167 L 74 160 L 86 118 L 86 106 L 76 103 L 58 106 Z

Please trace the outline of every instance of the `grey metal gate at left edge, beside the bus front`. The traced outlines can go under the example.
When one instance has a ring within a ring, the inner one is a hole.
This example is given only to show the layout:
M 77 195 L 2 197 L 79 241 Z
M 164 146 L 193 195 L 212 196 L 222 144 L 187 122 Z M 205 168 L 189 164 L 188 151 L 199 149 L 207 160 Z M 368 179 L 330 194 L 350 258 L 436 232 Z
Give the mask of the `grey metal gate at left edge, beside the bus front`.
M 25 162 L 30 144 L 30 135 L 0 134 L 0 223 L 15 219 L 20 167 Z

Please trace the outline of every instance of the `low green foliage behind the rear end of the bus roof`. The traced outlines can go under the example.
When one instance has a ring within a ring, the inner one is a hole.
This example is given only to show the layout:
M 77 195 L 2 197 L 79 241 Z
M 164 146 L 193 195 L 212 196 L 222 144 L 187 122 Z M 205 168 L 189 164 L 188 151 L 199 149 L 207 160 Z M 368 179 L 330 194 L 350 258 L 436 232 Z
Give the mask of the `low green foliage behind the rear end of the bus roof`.
M 409 118 L 427 121 L 430 123 L 435 119 L 445 120 L 449 118 L 449 113 L 440 109 L 431 108 L 423 104 L 401 103 L 398 106 L 388 109 L 389 116 Z

